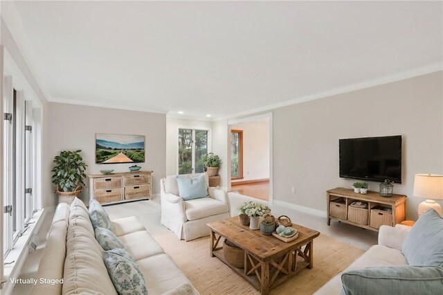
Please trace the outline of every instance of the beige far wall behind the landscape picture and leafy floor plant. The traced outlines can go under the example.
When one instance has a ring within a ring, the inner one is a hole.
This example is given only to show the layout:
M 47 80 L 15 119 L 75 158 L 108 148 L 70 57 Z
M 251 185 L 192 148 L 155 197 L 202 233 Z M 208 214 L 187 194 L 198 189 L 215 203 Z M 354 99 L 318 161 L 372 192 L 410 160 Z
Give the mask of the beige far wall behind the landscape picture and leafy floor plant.
M 96 164 L 96 133 L 145 135 L 145 163 L 138 163 L 142 170 L 153 170 L 152 193 L 160 193 L 160 179 L 165 177 L 166 115 L 143 111 L 126 111 L 102 107 L 49 103 L 47 159 L 44 170 L 51 184 L 53 157 L 62 150 L 82 150 L 87 163 L 87 174 L 99 174 L 103 169 L 114 172 L 129 171 L 132 164 Z M 86 183 L 86 181 L 85 181 Z M 48 186 L 46 206 L 57 204 L 53 186 Z M 88 189 L 82 199 L 89 200 Z

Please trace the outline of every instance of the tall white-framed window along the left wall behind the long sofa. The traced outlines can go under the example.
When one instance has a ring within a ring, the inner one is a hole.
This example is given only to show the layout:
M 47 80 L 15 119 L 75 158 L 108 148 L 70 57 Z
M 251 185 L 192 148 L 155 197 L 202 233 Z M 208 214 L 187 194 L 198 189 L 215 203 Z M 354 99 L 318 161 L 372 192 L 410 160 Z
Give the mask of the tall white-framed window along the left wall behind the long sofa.
M 35 209 L 32 187 L 33 109 L 24 91 L 4 78 L 3 93 L 3 256 L 28 229 Z

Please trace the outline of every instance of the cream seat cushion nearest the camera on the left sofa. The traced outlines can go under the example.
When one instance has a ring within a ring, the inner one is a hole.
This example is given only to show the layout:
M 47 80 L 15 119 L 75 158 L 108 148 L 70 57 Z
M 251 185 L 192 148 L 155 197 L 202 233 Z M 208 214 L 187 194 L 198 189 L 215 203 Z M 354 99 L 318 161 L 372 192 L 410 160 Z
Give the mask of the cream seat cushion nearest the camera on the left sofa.
M 150 294 L 163 294 L 183 283 L 190 283 L 188 278 L 172 261 L 168 254 L 159 254 L 138 260 Z

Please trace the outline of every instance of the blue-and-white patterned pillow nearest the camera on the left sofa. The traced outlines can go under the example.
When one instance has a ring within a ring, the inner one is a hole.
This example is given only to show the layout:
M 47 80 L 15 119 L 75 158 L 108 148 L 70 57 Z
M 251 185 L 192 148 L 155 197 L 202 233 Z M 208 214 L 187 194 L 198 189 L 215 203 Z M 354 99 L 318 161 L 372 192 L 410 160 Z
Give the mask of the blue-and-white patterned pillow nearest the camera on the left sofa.
M 125 249 L 103 251 L 103 260 L 114 287 L 120 295 L 147 295 L 145 278 Z

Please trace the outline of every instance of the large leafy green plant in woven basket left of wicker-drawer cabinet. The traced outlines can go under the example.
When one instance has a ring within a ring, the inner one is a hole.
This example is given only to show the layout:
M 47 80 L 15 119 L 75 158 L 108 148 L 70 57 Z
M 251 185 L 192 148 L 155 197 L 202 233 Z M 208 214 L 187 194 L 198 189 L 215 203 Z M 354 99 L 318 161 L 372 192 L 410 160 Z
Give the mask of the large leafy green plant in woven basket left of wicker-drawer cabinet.
M 55 192 L 59 197 L 78 196 L 82 193 L 84 171 L 87 164 L 84 163 L 81 150 L 64 150 L 54 157 L 52 183 L 57 186 Z

